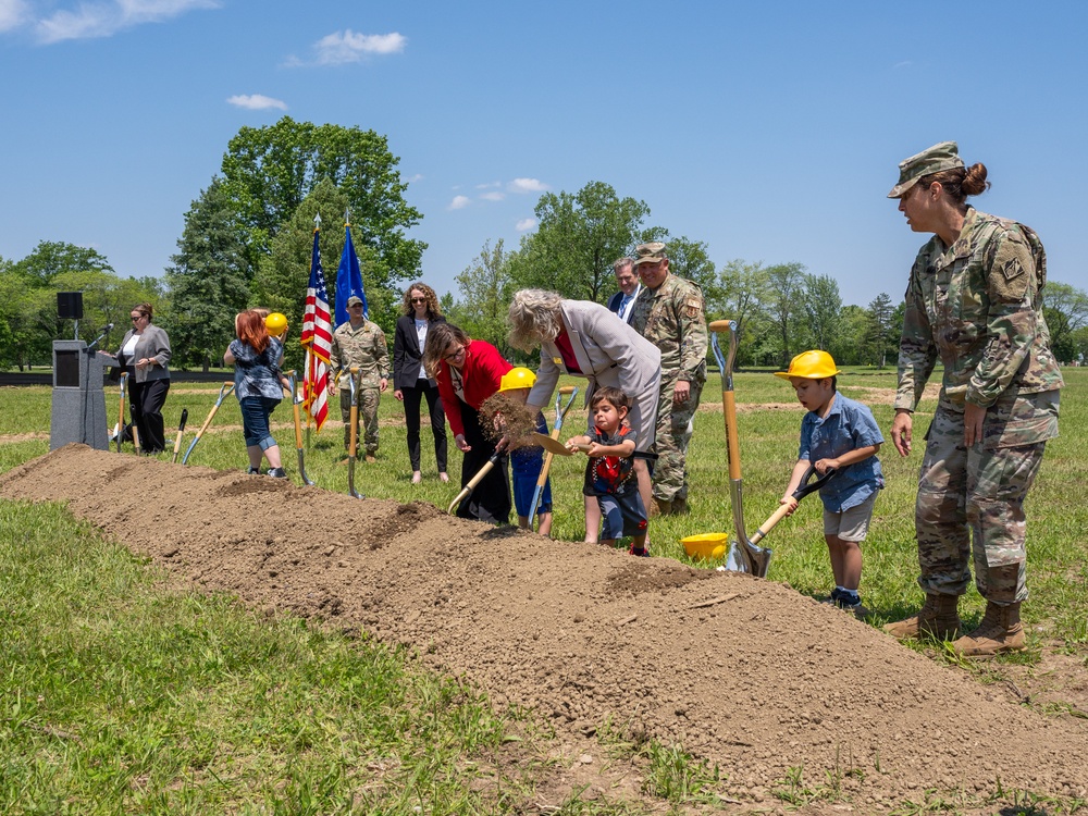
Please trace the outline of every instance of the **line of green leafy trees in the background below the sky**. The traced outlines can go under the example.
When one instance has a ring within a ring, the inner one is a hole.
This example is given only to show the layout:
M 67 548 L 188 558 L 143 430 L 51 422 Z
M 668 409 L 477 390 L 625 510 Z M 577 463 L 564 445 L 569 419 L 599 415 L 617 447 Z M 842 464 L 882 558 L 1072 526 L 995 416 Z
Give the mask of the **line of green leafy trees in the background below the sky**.
M 0 258 L 0 367 L 50 363 L 51 342 L 71 332 L 57 317 L 55 294 L 65 290 L 84 293 L 81 335 L 115 323 L 114 342 L 132 306 L 151 302 L 178 368 L 217 364 L 234 336 L 234 316 L 251 306 L 282 311 L 297 332 L 319 214 L 330 299 L 350 213 L 370 317 L 392 333 L 400 289 L 420 275 L 425 249 L 406 236 L 422 214 L 404 199 L 397 163 L 372 131 L 288 116 L 242 128 L 186 213 L 163 277 L 121 277 L 94 249 L 46 240 L 22 260 Z M 604 302 L 616 290 L 613 262 L 638 244 L 665 240 L 671 271 L 702 287 L 708 318 L 738 322 L 741 366 L 784 367 L 809 348 L 830 351 L 841 364 L 895 364 L 902 301 L 881 293 L 864 307 L 844 305 L 833 271 L 741 259 L 715 264 L 705 243 L 647 224 L 644 201 L 620 198 L 603 182 L 574 194 L 546 193 L 535 215 L 536 230 L 516 249 L 486 242 L 457 275 L 456 296 L 443 296 L 452 320 L 511 359 L 506 309 L 514 292 L 539 287 Z M 1088 294 L 1051 282 L 1044 298 L 1059 360 L 1088 355 Z M 288 344 L 287 367 L 297 367 L 300 355 L 297 343 Z

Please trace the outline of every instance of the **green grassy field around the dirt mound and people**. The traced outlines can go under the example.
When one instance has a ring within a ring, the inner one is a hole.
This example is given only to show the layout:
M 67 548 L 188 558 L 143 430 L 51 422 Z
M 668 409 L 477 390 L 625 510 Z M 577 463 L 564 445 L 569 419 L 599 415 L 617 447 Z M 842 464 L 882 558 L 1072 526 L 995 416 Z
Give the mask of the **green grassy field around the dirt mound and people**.
M 1088 509 L 1070 500 L 1088 477 L 1088 457 L 1076 453 L 1088 429 L 1088 371 L 1065 373 L 1062 436 L 1048 445 L 1027 507 L 1029 648 L 985 669 L 964 666 L 984 682 L 1000 677 L 1002 667 L 1030 667 L 1052 652 L 1088 664 Z M 868 403 L 887 432 L 893 372 L 853 371 L 840 378 L 840 387 Z M 171 388 L 168 428 L 176 429 L 183 408 L 189 411 L 183 452 L 218 391 L 210 384 Z M 752 531 L 775 510 L 789 479 L 802 410 L 788 384 L 767 374 L 739 374 L 735 391 Z M 108 396 L 112 424 L 115 390 Z M 689 460 L 691 515 L 651 526 L 654 554 L 684 561 L 683 535 L 732 529 L 716 376 L 703 405 Z M 931 410 L 920 407 L 916 437 Z M 47 452 L 49 416 L 49 388 L 0 388 L 0 471 Z M 584 417 L 572 410 L 567 429 L 583 426 Z M 274 433 L 299 483 L 289 420 L 289 406 L 281 406 Z M 357 466 L 356 486 L 372 497 L 445 508 L 457 492 L 460 455 L 450 450 L 452 482 L 440 483 L 424 430 L 424 482 L 412 485 L 404 417 L 391 394 L 382 399 L 381 420 L 379 461 Z M 343 456 L 339 423 L 330 422 L 311 434 L 307 472 L 321 487 L 346 492 Z M 874 625 L 922 599 L 913 537 L 920 445 L 902 460 L 889 443 L 881 460 L 888 486 L 877 500 L 862 579 Z M 582 537 L 583 462 L 560 459 L 553 471 L 553 532 L 560 540 Z M 233 396 L 190 465 L 245 468 Z M 805 594 L 827 592 L 817 497 L 765 543 L 775 549 L 770 580 Z M 546 774 L 549 735 L 531 713 L 498 716 L 472 689 L 421 671 L 404 652 L 290 618 L 258 618 L 226 597 L 169 590 L 161 578 L 57 506 L 0 502 L 5 813 L 509 813 L 531 800 Z M 981 608 L 972 590 L 964 607 L 970 622 Z M 682 751 L 646 744 L 621 753 L 643 764 L 651 798 L 678 805 L 705 800 L 713 789 L 713 770 Z M 641 811 L 607 798 L 572 798 L 561 811 L 634 812 Z

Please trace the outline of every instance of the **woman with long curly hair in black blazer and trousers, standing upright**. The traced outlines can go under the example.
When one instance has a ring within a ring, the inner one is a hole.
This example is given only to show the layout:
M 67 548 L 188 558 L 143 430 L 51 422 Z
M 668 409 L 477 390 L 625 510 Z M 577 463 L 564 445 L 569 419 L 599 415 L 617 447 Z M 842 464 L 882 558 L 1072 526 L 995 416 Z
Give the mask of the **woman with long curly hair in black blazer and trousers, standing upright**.
M 426 397 L 431 411 L 431 432 L 434 434 L 434 459 L 438 479 L 448 482 L 446 474 L 446 416 L 438 399 L 438 384 L 423 370 L 423 344 L 431 323 L 445 322 L 434 289 L 424 283 L 413 283 L 405 290 L 403 317 L 397 319 L 393 338 L 393 396 L 404 403 L 408 422 L 408 458 L 411 459 L 411 481 L 419 484 L 423 474 L 419 469 L 419 407 Z

